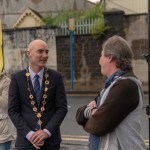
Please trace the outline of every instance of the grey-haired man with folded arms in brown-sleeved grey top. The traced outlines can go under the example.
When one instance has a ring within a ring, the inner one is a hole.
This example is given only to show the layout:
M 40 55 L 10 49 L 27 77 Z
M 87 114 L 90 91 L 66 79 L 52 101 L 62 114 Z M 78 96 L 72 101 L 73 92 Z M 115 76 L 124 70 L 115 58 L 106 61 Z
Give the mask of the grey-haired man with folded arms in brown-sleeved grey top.
M 76 120 L 90 133 L 89 150 L 145 150 L 141 131 L 143 90 L 132 68 L 129 44 L 114 35 L 102 46 L 99 64 L 107 77 L 100 94 L 78 108 Z

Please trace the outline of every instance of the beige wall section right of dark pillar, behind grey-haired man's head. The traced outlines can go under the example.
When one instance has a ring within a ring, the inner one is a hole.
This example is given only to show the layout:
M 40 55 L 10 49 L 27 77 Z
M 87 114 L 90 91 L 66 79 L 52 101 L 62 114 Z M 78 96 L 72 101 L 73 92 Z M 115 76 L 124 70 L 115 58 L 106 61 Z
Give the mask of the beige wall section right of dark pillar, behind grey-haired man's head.
M 148 54 L 148 15 L 124 16 L 124 33 L 134 52 L 133 69 L 138 78 L 148 82 L 148 63 L 143 54 Z

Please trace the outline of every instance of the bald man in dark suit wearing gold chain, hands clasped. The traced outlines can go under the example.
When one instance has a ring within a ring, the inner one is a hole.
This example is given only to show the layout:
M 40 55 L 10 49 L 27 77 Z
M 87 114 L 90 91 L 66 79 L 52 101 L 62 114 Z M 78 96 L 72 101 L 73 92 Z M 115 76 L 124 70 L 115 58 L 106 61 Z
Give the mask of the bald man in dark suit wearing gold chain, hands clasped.
M 67 113 L 61 74 L 45 67 L 48 46 L 40 39 L 27 49 L 29 67 L 12 74 L 8 114 L 17 128 L 16 150 L 59 150 Z

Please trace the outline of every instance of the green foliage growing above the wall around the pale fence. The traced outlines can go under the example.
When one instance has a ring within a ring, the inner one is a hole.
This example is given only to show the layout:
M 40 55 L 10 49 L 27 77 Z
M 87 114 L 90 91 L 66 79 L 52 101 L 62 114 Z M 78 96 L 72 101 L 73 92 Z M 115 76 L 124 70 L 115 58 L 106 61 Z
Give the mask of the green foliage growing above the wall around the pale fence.
M 102 3 L 103 2 L 103 3 Z M 99 38 L 101 35 L 105 34 L 105 31 L 109 29 L 105 25 L 103 12 L 105 10 L 105 1 L 100 1 L 95 7 L 90 9 L 85 9 L 82 11 L 60 11 L 56 16 L 49 15 L 43 20 L 46 25 L 58 26 L 60 23 L 68 23 L 70 17 L 75 18 L 75 20 L 86 20 L 86 19 L 96 19 L 93 26 L 91 26 L 92 34 L 95 38 Z M 78 28 L 76 30 L 79 30 Z

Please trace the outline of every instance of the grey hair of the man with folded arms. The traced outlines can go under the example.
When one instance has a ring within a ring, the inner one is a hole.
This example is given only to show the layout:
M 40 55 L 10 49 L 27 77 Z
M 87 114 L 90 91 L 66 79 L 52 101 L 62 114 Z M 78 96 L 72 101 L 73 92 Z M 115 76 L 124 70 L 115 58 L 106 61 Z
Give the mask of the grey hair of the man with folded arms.
M 102 45 L 104 56 L 112 56 L 116 67 L 124 71 L 132 70 L 133 52 L 128 42 L 118 35 L 114 35 Z

